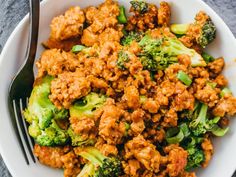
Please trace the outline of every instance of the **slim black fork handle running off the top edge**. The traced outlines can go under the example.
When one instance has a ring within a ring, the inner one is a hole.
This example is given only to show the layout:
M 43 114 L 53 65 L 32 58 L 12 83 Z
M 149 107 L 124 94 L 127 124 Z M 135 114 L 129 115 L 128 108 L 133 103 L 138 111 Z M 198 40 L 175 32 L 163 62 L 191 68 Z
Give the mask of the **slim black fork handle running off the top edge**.
M 29 30 L 27 52 L 26 52 L 25 67 L 33 68 L 37 51 L 37 43 L 38 43 L 40 1 L 29 0 L 29 4 L 30 4 L 30 12 L 29 12 L 30 30 Z

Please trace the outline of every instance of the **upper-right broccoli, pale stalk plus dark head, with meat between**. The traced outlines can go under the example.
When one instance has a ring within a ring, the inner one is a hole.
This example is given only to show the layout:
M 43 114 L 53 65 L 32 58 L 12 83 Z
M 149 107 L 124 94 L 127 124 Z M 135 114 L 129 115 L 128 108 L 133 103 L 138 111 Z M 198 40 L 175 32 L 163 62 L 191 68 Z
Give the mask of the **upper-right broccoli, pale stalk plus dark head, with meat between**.
M 194 26 L 199 27 L 199 33 L 194 36 L 196 42 L 205 48 L 216 38 L 216 27 L 211 18 L 205 20 L 204 23 L 195 21 Z M 189 30 L 190 24 L 173 24 L 171 25 L 171 31 L 176 35 L 185 35 Z

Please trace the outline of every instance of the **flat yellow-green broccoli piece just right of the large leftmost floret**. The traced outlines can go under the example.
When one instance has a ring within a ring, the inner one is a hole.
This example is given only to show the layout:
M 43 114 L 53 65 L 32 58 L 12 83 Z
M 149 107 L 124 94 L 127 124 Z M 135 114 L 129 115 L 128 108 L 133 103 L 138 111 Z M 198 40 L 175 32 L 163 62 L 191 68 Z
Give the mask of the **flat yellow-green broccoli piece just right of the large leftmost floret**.
M 83 97 L 80 100 L 77 100 L 70 107 L 70 116 L 81 118 L 83 116 L 92 117 L 94 111 L 101 106 L 106 101 L 106 96 L 91 92 L 87 96 Z

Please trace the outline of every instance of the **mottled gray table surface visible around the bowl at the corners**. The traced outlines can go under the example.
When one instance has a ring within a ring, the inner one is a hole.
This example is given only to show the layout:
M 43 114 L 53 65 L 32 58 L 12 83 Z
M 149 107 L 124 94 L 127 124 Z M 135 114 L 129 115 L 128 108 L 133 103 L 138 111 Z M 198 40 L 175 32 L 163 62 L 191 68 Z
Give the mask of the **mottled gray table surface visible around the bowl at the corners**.
M 226 22 L 236 36 L 236 0 L 204 0 Z M 0 52 L 19 21 L 28 12 L 27 0 L 0 0 Z M 0 177 L 11 177 L 0 156 Z M 236 177 L 236 173 L 233 175 Z

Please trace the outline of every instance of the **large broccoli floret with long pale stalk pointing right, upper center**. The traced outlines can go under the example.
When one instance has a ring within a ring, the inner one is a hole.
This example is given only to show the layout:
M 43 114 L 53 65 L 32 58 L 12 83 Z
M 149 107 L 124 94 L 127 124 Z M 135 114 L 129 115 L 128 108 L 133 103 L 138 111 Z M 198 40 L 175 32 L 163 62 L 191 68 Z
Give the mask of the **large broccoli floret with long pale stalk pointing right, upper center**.
M 177 38 L 152 38 L 146 34 L 139 42 L 142 52 L 139 54 L 144 69 L 163 70 L 170 64 L 178 62 L 177 56 L 186 54 L 191 57 L 192 67 L 206 66 L 206 62 L 195 50 L 185 47 Z

